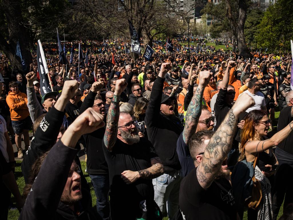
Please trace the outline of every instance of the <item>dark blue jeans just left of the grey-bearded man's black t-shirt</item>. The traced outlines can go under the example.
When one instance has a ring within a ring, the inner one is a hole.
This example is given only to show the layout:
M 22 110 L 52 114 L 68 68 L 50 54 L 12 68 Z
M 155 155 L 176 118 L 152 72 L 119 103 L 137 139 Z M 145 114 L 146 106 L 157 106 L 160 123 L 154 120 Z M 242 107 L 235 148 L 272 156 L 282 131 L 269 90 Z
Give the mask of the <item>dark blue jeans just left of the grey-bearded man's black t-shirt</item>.
M 110 190 L 110 182 L 108 174 L 91 175 L 91 183 L 97 197 L 97 212 L 104 220 L 108 220 L 110 216 L 110 206 L 108 202 L 108 192 Z

